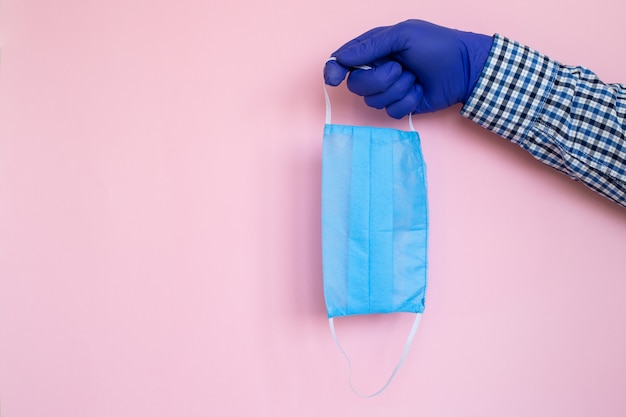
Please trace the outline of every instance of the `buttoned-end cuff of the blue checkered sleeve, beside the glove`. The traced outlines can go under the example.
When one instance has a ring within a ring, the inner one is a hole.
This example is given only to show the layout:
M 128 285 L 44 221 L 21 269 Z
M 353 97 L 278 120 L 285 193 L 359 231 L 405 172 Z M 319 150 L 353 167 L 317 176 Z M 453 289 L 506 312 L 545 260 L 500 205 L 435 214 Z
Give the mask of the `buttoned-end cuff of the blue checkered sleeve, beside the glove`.
M 519 144 L 541 111 L 558 68 L 550 58 L 496 34 L 461 114 Z

